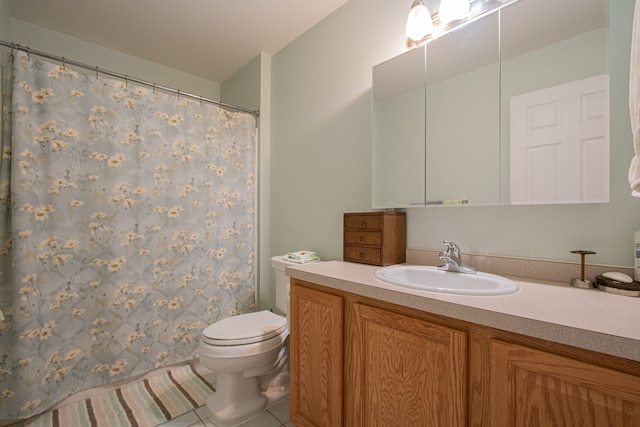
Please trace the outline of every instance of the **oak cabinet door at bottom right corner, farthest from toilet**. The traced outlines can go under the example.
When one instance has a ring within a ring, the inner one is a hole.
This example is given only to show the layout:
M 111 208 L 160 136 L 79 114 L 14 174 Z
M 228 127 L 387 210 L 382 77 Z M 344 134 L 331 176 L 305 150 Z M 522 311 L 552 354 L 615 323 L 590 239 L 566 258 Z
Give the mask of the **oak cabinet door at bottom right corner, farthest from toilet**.
M 491 343 L 493 427 L 640 426 L 640 378 L 566 357 Z

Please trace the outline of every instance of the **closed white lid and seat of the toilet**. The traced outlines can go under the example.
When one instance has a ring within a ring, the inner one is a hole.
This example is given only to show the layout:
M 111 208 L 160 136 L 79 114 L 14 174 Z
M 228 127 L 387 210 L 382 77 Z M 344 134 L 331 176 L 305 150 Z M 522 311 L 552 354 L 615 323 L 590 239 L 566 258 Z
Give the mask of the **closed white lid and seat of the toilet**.
M 258 311 L 222 319 L 202 332 L 211 345 L 242 345 L 268 340 L 287 328 L 284 317 L 270 311 Z

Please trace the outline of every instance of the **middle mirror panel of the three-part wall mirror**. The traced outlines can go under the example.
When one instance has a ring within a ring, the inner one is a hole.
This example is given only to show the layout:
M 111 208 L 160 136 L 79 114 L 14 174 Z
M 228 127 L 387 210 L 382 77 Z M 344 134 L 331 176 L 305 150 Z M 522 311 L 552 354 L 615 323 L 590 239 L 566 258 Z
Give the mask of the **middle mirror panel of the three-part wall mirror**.
M 427 44 L 426 204 L 500 202 L 498 14 Z

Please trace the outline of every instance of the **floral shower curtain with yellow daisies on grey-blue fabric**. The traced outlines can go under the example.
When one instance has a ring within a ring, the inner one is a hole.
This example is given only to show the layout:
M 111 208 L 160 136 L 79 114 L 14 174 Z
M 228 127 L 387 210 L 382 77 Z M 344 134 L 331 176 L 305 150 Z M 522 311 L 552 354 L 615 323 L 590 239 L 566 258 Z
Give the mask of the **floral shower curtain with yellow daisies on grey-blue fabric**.
M 255 118 L 15 52 L 0 165 L 0 418 L 190 360 L 255 309 Z

